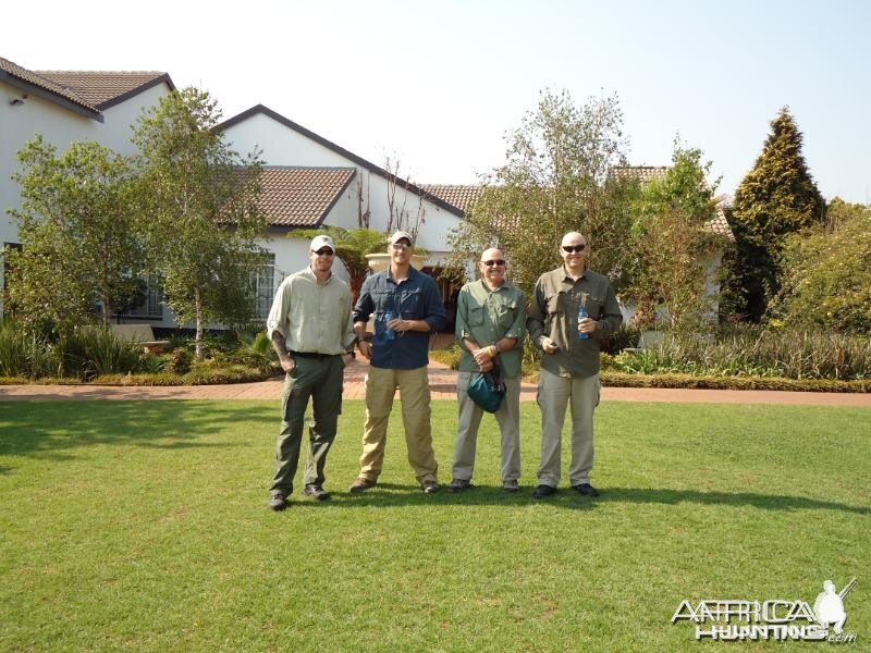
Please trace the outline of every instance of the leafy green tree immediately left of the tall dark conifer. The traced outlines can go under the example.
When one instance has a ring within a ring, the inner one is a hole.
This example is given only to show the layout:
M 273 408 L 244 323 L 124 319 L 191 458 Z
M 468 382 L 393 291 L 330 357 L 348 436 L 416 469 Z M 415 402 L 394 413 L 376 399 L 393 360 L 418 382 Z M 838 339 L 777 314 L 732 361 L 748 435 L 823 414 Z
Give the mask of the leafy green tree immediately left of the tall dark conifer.
M 716 182 L 709 184 L 712 162 L 702 164 L 701 157 L 700 149 L 675 141 L 672 167 L 633 202 L 637 267 L 624 295 L 635 303 L 641 326 L 664 313 L 673 329 L 698 329 L 711 315 L 709 264 L 725 241 L 706 229 L 716 211 Z

